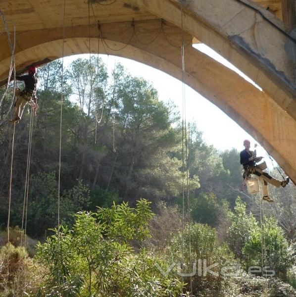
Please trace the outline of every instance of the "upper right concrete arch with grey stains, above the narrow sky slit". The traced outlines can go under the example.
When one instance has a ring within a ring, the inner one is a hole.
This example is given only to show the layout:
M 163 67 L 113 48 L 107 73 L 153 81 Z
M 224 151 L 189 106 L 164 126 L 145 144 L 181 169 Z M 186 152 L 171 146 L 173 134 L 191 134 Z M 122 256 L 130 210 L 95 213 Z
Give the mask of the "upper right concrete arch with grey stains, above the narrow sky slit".
M 130 2 L 181 26 L 181 0 Z M 182 3 L 186 32 L 233 63 L 296 118 L 296 43 L 288 38 L 287 27 L 248 0 Z

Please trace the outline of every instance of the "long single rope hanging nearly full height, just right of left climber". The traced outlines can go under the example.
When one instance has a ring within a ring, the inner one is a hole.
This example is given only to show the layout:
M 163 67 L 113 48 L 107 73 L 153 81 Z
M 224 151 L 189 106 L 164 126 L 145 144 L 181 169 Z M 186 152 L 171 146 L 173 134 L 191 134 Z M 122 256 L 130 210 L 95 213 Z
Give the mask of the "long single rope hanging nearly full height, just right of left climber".
M 63 88 L 64 88 L 64 41 L 65 41 L 65 13 L 66 0 L 64 0 L 63 14 L 63 38 L 62 38 L 62 75 L 61 75 L 61 106 L 59 126 L 59 160 L 58 160 L 58 198 L 57 198 L 57 245 L 58 245 L 58 287 L 60 288 L 60 173 L 61 173 L 61 151 L 62 151 L 62 115 L 63 115 Z

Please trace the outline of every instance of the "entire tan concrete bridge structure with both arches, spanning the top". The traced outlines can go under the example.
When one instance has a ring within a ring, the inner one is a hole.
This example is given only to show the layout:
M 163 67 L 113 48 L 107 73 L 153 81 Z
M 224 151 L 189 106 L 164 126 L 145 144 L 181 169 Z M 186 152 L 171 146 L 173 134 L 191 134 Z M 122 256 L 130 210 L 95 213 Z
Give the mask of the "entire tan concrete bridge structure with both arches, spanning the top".
M 17 70 L 23 72 L 29 65 L 61 57 L 63 1 L 18 2 L 23 5 L 16 6 L 15 1 L 4 0 L 0 7 L 6 18 L 16 25 L 15 63 Z M 221 11 L 227 13 L 219 12 L 221 2 L 183 1 L 185 82 L 261 143 L 295 182 L 293 40 L 287 36 L 285 26 L 268 12 L 263 11 L 262 15 L 267 15 L 281 30 L 260 19 L 261 14 L 240 1 L 226 0 L 229 5 L 224 3 Z M 105 6 L 101 4 L 112 1 L 92 0 L 91 3 L 89 25 L 88 1 L 66 0 L 64 55 L 88 53 L 90 38 L 93 53 L 99 50 L 99 53 L 134 59 L 181 79 L 181 12 L 177 0 L 117 0 Z M 261 9 L 254 3 L 252 7 Z M 12 32 L 10 25 L 8 28 Z M 264 35 L 268 32 L 269 38 Z M 193 48 L 196 39 L 247 73 L 263 92 Z M 287 48 L 290 43 L 291 47 Z M 0 48 L 0 81 L 3 84 L 11 60 L 5 34 L 0 35 L 0 44 L 3 45 Z M 212 124 L 219 123 L 212 119 Z

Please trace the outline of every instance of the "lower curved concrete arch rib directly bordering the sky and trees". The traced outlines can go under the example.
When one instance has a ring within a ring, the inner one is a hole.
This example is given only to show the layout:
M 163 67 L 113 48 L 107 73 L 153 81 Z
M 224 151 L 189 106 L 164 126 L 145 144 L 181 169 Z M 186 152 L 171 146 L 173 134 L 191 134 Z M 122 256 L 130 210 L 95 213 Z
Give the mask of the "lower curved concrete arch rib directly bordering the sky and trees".
M 138 26 L 141 30 L 138 30 Z M 17 39 L 22 48 L 17 49 L 15 55 L 19 69 L 26 66 L 28 61 L 34 63 L 60 57 L 61 29 L 19 32 Z M 89 52 L 88 29 L 88 25 L 66 28 L 65 55 Z M 96 53 L 99 31 L 97 25 L 92 25 L 90 29 L 91 50 Z M 171 24 L 163 25 L 161 20 L 156 20 L 141 24 L 136 22 L 135 31 L 136 34 L 133 33 L 131 22 L 102 24 L 99 52 L 131 58 L 181 79 L 180 28 Z M 185 83 L 250 133 L 296 181 L 296 121 L 266 93 L 260 92 L 235 72 L 192 48 L 191 35 L 185 33 L 184 40 L 187 44 Z M 1 67 L 8 65 L 9 60 L 8 56 L 1 61 Z M 0 73 L 0 77 L 4 75 L 4 72 Z

